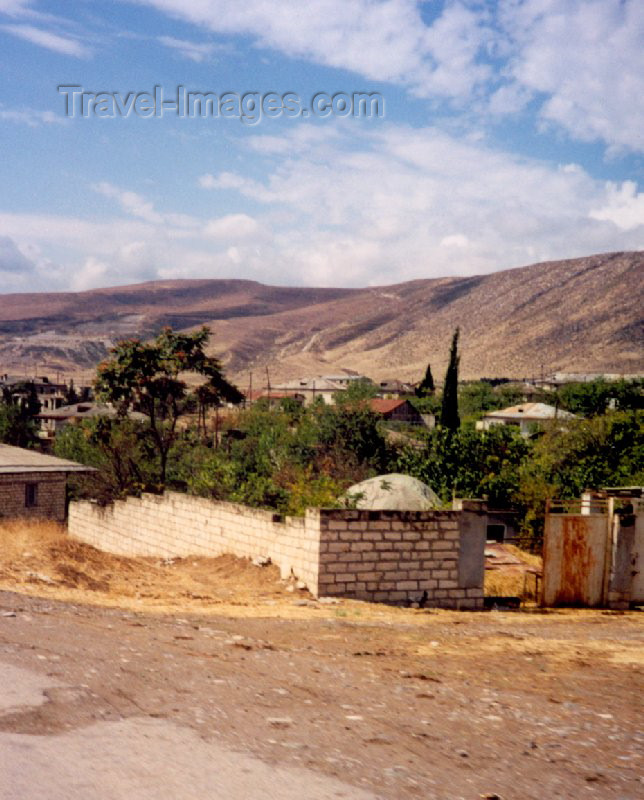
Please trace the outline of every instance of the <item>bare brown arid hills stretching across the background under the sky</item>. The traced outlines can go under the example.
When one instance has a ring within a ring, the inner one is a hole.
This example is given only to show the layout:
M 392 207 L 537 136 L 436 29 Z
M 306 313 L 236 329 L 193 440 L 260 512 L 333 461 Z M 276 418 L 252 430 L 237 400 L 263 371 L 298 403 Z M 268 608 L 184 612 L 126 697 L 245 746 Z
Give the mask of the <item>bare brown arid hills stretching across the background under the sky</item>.
M 463 377 L 640 372 L 644 252 L 365 289 L 245 280 L 155 281 L 80 293 L 0 295 L 0 370 L 89 370 L 110 341 L 163 325 L 214 332 L 229 374 L 255 385 L 339 369 L 442 374 L 461 328 Z

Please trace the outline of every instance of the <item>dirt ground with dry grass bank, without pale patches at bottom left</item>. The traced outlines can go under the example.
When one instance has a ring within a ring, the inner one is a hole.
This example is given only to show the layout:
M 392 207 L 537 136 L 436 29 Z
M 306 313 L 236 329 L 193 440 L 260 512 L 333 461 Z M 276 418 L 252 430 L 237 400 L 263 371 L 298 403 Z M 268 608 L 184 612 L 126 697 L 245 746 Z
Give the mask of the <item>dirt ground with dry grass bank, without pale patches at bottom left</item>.
M 14 524 L 0 671 L 73 689 L 0 731 L 161 719 L 392 800 L 639 800 L 643 622 L 318 602 L 272 566 L 119 558 Z

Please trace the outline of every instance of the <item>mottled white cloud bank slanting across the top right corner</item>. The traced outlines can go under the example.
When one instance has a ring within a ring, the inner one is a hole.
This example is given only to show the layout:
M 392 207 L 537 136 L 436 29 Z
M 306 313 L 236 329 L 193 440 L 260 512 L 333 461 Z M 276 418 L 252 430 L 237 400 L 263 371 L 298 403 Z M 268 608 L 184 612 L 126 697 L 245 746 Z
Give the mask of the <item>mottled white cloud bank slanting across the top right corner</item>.
M 131 1 L 479 115 L 532 100 L 573 138 L 644 149 L 642 0 L 454 0 L 427 24 L 420 0 Z

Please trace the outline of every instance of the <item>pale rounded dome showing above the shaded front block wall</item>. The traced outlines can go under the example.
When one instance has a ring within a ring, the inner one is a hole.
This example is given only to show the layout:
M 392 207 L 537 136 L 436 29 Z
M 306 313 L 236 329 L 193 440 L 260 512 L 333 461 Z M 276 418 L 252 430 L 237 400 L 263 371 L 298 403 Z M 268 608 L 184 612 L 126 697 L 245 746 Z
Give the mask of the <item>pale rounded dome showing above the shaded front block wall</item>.
M 399 472 L 356 483 L 347 489 L 344 499 L 356 508 L 373 510 L 429 511 L 441 505 L 426 483 Z

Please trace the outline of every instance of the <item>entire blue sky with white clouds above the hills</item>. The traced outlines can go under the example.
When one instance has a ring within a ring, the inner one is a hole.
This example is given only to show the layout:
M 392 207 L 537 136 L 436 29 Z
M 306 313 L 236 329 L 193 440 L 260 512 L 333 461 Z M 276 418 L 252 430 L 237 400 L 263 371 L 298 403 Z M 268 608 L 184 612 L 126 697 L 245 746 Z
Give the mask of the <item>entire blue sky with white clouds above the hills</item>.
M 643 42 L 641 0 L 0 0 L 0 291 L 644 249 Z M 69 117 L 60 85 L 384 115 Z

